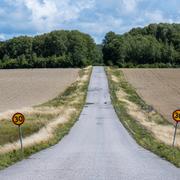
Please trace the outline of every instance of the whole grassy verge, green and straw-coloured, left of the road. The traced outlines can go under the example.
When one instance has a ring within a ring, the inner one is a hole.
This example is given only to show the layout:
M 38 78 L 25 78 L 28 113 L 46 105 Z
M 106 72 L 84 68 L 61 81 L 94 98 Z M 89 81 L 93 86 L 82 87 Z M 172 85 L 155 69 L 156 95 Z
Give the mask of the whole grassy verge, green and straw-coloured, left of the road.
M 84 106 L 91 71 L 92 67 L 80 70 L 77 81 L 56 98 L 21 110 L 26 117 L 22 126 L 25 158 L 58 143 L 68 134 Z M 0 137 L 0 169 L 22 160 L 17 127 L 10 119 L 14 112 L 6 112 L 0 119 L 1 129 L 4 129 Z

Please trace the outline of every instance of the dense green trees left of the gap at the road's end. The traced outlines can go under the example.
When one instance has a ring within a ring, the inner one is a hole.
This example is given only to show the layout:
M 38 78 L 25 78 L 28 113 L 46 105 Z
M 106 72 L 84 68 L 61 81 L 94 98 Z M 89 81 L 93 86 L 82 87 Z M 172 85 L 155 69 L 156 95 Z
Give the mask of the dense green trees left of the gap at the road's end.
M 79 31 L 53 31 L 0 42 L 0 68 L 83 67 L 102 63 L 94 40 Z

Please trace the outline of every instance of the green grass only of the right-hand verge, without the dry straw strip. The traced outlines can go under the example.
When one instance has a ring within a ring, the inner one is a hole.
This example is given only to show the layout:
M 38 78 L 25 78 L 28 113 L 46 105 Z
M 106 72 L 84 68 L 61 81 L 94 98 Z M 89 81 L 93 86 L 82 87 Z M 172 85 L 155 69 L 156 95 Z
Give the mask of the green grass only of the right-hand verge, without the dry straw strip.
M 135 120 L 129 114 L 127 104 L 118 98 L 117 92 L 120 90 L 125 92 L 128 95 L 128 100 L 138 105 L 142 111 L 149 111 L 151 107 L 148 106 L 138 96 L 135 89 L 125 81 L 122 71 L 116 68 L 106 68 L 106 74 L 109 82 L 111 100 L 116 113 L 136 142 L 145 149 L 150 150 L 161 158 L 173 163 L 175 166 L 180 167 L 180 149 L 178 147 L 173 148 L 158 140 L 150 130 L 146 129 L 139 121 Z M 116 81 L 114 81 L 113 78 L 116 78 Z M 157 125 L 169 124 L 167 121 L 163 120 L 162 117 L 159 119 L 155 118 L 153 121 L 157 123 Z

